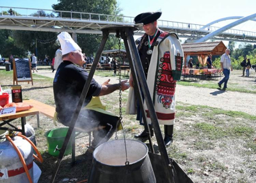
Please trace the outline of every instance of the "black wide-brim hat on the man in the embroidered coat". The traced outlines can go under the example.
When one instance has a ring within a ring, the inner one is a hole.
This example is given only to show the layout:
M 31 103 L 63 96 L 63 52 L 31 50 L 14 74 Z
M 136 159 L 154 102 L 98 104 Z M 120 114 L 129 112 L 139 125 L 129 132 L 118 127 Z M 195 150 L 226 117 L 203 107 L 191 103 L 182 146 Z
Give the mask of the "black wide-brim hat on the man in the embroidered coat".
M 142 23 L 143 25 L 149 24 L 151 22 L 156 21 L 159 19 L 162 15 L 162 12 L 147 12 L 147 13 L 141 13 L 140 15 L 137 15 L 134 18 L 135 24 Z

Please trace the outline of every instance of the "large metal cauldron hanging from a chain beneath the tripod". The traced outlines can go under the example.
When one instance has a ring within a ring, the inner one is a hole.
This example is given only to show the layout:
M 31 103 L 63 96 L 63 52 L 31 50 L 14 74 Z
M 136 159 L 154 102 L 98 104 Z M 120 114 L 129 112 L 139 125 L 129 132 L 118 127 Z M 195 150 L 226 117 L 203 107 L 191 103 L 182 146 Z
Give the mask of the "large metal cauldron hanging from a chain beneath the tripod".
M 148 148 L 140 141 L 126 140 L 125 165 L 124 139 L 108 141 L 93 152 L 93 165 L 89 183 L 156 183 Z

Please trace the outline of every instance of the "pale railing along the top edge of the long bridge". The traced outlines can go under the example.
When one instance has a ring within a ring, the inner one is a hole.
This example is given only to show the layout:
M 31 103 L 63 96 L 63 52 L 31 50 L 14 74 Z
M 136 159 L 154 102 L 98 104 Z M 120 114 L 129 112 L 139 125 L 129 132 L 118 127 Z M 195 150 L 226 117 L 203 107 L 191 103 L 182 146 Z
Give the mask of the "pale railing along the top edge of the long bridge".
M 12 8 L 13 16 L 22 17 L 47 17 L 52 19 L 74 19 L 74 20 L 92 20 L 99 22 L 125 22 L 133 24 L 134 17 L 121 16 L 121 15 L 105 15 L 99 13 L 84 13 L 84 12 L 72 12 L 72 11 L 60 11 L 60 10 L 45 10 L 36 8 L 18 8 L 18 7 L 8 7 L 0 6 L 1 15 L 10 15 L 10 9 Z M 185 22 L 174 22 L 168 20 L 157 20 L 160 27 L 164 28 L 179 28 L 187 29 L 188 31 L 216 31 L 220 29 L 216 26 L 209 26 L 202 30 L 204 25 L 200 24 L 190 24 Z M 228 29 L 223 33 L 231 35 L 243 35 L 243 36 L 256 36 L 255 32 L 243 31 L 239 29 Z

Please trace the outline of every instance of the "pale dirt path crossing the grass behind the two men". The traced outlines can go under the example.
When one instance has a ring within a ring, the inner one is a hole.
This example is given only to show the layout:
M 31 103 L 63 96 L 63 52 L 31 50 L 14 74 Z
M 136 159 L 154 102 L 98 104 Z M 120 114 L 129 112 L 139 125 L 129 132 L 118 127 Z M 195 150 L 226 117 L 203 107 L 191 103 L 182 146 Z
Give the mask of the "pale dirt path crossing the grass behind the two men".
M 55 76 L 55 73 L 52 73 L 51 70 L 40 70 L 40 72 L 36 74 L 52 78 Z M 93 76 L 93 78 L 99 83 L 104 83 L 104 81 L 106 81 L 108 78 L 111 79 L 110 83 L 118 83 L 117 77 L 107 78 Z M 220 109 L 243 111 L 244 113 L 248 113 L 250 115 L 256 115 L 255 94 L 228 91 L 223 92 L 218 89 L 177 85 L 176 99 L 177 102 L 184 102 L 186 104 L 218 107 Z

